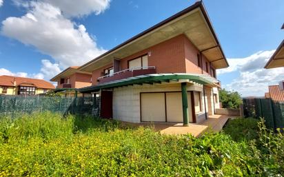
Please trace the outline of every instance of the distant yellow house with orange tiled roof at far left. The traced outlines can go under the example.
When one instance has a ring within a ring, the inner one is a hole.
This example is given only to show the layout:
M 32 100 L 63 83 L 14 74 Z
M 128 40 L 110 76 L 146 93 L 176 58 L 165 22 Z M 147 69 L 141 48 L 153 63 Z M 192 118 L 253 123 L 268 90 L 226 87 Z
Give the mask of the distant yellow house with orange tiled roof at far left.
M 45 94 L 53 89 L 54 85 L 43 79 L 0 76 L 0 94 L 4 95 Z

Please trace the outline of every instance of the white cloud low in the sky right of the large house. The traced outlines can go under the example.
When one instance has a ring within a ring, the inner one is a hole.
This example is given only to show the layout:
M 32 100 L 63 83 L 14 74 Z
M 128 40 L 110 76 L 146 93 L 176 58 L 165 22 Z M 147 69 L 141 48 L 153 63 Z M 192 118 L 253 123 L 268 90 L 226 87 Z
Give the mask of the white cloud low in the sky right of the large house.
M 268 85 L 276 85 L 283 80 L 283 67 L 270 70 L 263 68 L 273 53 L 274 50 L 264 51 L 243 59 L 228 59 L 230 67 L 220 70 L 219 74 L 238 71 L 239 76 L 223 87 L 240 92 L 242 96 L 264 96 L 268 92 Z

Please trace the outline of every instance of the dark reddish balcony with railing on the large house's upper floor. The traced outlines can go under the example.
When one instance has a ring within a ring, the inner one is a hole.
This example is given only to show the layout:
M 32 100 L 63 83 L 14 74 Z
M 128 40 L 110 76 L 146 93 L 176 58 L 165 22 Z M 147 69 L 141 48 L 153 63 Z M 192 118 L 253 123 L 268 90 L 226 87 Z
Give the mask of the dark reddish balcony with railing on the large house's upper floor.
M 156 67 L 135 67 L 131 69 L 122 70 L 120 72 L 114 72 L 113 74 L 108 74 L 106 76 L 101 76 L 98 78 L 99 83 L 108 83 L 111 81 L 116 81 L 120 79 L 126 79 L 133 76 L 140 76 L 144 74 L 156 74 Z

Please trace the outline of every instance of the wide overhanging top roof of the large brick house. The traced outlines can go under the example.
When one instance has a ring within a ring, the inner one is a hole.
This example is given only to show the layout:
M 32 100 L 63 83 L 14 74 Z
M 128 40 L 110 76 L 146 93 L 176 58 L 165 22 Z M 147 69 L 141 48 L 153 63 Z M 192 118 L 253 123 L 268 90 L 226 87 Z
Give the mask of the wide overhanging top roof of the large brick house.
M 199 1 L 85 63 L 79 70 L 92 72 L 112 63 L 114 58 L 123 59 L 179 34 L 185 34 L 216 69 L 229 66 L 205 7 L 202 1 Z

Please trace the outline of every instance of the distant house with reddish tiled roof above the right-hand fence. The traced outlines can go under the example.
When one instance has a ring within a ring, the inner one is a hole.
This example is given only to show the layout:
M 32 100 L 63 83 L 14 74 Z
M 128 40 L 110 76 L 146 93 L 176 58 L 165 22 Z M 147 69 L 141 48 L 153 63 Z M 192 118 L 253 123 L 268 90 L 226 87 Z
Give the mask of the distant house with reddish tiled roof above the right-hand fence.
M 265 93 L 265 98 L 271 98 L 273 101 L 284 101 L 284 81 L 279 85 L 268 86 L 269 92 Z

